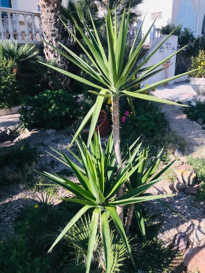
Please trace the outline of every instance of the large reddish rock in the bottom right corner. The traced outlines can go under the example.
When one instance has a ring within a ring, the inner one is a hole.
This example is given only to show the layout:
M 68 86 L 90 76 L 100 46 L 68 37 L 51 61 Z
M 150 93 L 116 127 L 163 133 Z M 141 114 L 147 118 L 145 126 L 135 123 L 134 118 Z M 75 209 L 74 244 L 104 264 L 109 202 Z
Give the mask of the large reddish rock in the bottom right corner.
M 203 273 L 205 268 L 205 247 L 196 247 L 188 249 L 183 256 L 183 263 L 189 272 Z

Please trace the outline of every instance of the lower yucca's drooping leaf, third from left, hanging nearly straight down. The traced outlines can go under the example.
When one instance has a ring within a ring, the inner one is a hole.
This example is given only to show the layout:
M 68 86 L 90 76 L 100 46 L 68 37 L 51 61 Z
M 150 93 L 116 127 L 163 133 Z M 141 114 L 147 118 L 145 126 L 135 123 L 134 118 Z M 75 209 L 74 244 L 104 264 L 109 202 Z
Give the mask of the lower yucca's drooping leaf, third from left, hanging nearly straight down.
M 110 273 L 110 229 L 108 216 L 105 211 L 101 212 L 101 232 L 103 240 L 103 248 L 105 255 L 106 273 Z

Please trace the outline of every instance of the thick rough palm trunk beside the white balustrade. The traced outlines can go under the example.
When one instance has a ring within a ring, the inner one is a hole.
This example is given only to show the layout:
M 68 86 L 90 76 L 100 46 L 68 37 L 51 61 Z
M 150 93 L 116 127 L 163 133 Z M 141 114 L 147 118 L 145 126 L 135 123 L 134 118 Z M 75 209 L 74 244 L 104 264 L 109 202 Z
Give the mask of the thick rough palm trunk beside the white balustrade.
M 42 24 L 43 39 L 64 51 L 64 49 L 58 44 L 58 41 L 67 46 L 70 43 L 67 32 L 64 29 L 62 22 L 59 19 L 61 12 L 62 0 L 40 0 L 40 15 Z M 48 44 L 43 42 L 44 54 L 47 60 L 57 59 L 57 65 L 63 70 L 68 70 L 69 62 L 56 50 L 52 49 Z M 59 85 L 61 88 L 68 88 L 70 84 L 70 78 L 62 73 L 57 73 L 59 79 Z

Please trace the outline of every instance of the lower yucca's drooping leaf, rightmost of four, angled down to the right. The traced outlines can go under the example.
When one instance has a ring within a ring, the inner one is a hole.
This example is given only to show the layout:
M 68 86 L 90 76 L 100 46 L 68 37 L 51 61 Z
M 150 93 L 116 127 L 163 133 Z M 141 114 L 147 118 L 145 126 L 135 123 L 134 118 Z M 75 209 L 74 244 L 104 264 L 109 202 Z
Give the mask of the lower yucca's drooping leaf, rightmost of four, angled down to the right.
M 126 237 L 126 234 L 125 234 L 125 230 L 123 228 L 123 225 L 122 225 L 122 222 L 120 220 L 120 217 L 116 211 L 116 209 L 114 207 L 112 207 L 111 205 L 108 205 L 108 206 L 105 206 L 106 209 L 108 210 L 109 214 L 111 215 L 113 221 L 114 221 L 114 224 L 116 225 L 118 231 L 119 231 L 119 234 L 125 244 L 125 247 L 128 251 L 128 254 L 130 256 L 130 259 L 132 261 L 132 264 L 135 266 L 135 263 L 134 263 L 134 260 L 133 260 L 133 257 L 132 257 L 132 253 L 131 253 L 131 249 L 130 249 L 130 246 L 129 246 L 129 243 L 128 243 L 128 239 Z

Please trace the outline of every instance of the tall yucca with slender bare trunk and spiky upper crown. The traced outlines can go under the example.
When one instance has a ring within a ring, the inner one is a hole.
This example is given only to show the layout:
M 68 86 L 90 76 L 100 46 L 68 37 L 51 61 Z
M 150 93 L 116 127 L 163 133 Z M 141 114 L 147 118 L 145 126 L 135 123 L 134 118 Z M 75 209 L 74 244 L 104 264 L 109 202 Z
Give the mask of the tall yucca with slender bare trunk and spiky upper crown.
M 96 27 L 94 25 L 92 16 L 91 16 L 91 22 L 92 22 L 92 28 L 94 30 L 94 34 L 90 31 L 89 27 L 85 24 L 85 29 L 87 30 L 87 35 L 83 32 L 83 30 L 80 28 L 80 26 L 75 22 L 75 25 L 82 35 L 84 39 L 84 43 L 87 45 L 86 47 L 77 39 L 75 34 L 67 27 L 66 24 L 65 28 L 73 35 L 75 41 L 80 45 L 80 47 L 83 49 L 87 57 L 92 62 L 94 69 L 89 66 L 84 60 L 82 60 L 79 56 L 77 56 L 74 52 L 72 52 L 70 49 L 65 47 L 63 44 L 59 42 L 60 45 L 69 53 L 69 55 L 65 54 L 64 52 L 60 51 L 53 45 L 50 45 L 53 49 L 55 49 L 57 52 L 60 52 L 63 56 L 65 56 L 69 61 L 76 64 L 80 69 L 87 72 L 89 75 L 93 77 L 93 79 L 97 80 L 99 84 L 94 84 L 86 79 L 81 78 L 80 76 L 74 75 L 70 72 L 64 71 L 63 69 L 59 69 L 57 67 L 52 67 L 48 64 L 45 64 L 46 66 L 49 66 L 53 69 L 55 69 L 58 72 L 61 72 L 67 76 L 70 76 L 73 79 L 76 79 L 82 83 L 85 83 L 89 86 L 92 86 L 94 88 L 99 89 L 99 92 L 96 91 L 89 91 L 95 95 L 97 95 L 96 103 L 91 108 L 91 110 L 87 113 L 85 116 L 83 122 L 81 123 L 81 126 L 77 130 L 71 145 L 76 140 L 76 137 L 79 135 L 81 130 L 84 128 L 86 123 L 91 119 L 91 126 L 90 126 L 90 133 L 88 136 L 87 146 L 89 147 L 91 143 L 91 138 L 94 133 L 94 129 L 98 120 L 98 116 L 101 110 L 101 106 L 103 101 L 106 98 L 111 98 L 112 100 L 112 120 L 113 120 L 113 139 L 114 139 L 114 151 L 115 151 L 115 157 L 116 157 L 116 164 L 121 166 L 121 154 L 120 154 L 120 137 L 119 137 L 119 98 L 121 96 L 126 96 L 128 99 L 128 102 L 130 104 L 130 107 L 132 109 L 132 112 L 134 112 L 133 104 L 132 104 L 132 97 L 138 98 L 138 99 L 145 99 L 160 103 L 168 103 L 173 105 L 179 105 L 177 103 L 171 102 L 166 99 L 160 99 L 156 98 L 154 96 L 149 96 L 144 94 L 144 91 L 148 89 L 152 89 L 156 86 L 162 85 L 164 83 L 167 83 L 171 80 L 177 79 L 183 75 L 186 75 L 190 72 L 183 73 L 181 75 L 177 75 L 174 77 L 171 77 L 169 79 L 165 79 L 162 81 L 159 81 L 157 83 L 153 83 L 149 86 L 143 87 L 140 90 L 136 91 L 130 91 L 132 90 L 136 84 L 140 84 L 146 79 L 149 79 L 150 77 L 154 76 L 155 74 L 161 72 L 165 67 L 159 68 L 164 62 L 166 62 L 168 59 L 173 57 L 175 54 L 177 54 L 179 51 L 183 50 L 185 47 L 179 49 L 177 52 L 171 54 L 169 57 L 166 57 L 162 61 L 158 62 L 155 65 L 143 68 L 145 64 L 149 61 L 149 59 L 159 50 L 159 48 L 164 44 L 164 42 L 173 34 L 175 30 L 173 30 L 168 36 L 166 36 L 165 39 L 158 45 L 158 47 L 153 50 L 153 52 L 144 60 L 141 62 L 141 64 L 133 70 L 133 67 L 136 64 L 137 58 L 143 48 L 143 44 L 151 31 L 155 20 L 153 21 L 151 27 L 149 28 L 148 32 L 145 34 L 145 36 L 142 38 L 138 46 L 136 47 L 138 38 L 141 33 L 142 25 L 140 26 L 138 30 L 138 34 L 135 37 L 135 40 L 133 42 L 128 60 L 126 62 L 126 65 L 123 67 L 123 60 L 124 60 L 124 52 L 125 52 L 125 45 L 126 45 L 126 37 L 128 33 L 128 22 L 129 22 L 129 15 L 130 11 L 128 12 L 128 15 L 126 16 L 125 10 L 123 12 L 121 23 L 119 26 L 119 31 L 117 31 L 117 15 L 115 12 L 114 16 L 114 23 L 111 19 L 110 11 L 108 11 L 108 15 L 106 16 L 106 30 L 107 30 L 107 37 L 108 37 L 108 58 L 105 55 L 103 46 L 101 44 L 100 38 L 97 34 Z M 74 20 L 74 19 L 73 19 Z M 74 20 L 75 21 L 75 20 Z M 179 24 L 180 25 L 180 24 Z M 178 26 L 179 26 L 178 25 Z M 140 74 L 141 73 L 141 74 Z M 132 81 L 132 76 L 139 75 L 134 81 Z M 119 168 L 120 171 L 121 167 Z M 123 194 L 123 190 L 121 189 L 120 192 L 117 194 L 117 196 L 121 196 Z M 121 221 L 123 221 L 123 207 L 118 207 L 118 214 L 121 217 Z

